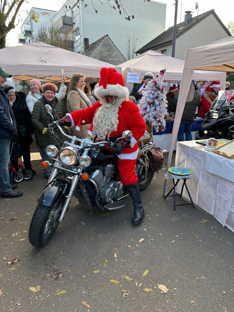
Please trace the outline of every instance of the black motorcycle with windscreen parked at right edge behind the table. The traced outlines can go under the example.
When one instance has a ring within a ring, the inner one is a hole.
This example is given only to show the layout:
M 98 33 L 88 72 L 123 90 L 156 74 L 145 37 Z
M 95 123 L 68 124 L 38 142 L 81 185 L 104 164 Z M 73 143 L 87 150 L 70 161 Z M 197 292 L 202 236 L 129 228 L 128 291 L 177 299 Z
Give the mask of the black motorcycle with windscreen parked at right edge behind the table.
M 211 104 L 206 118 L 202 121 L 202 139 L 233 139 L 233 133 L 229 127 L 234 125 L 233 103 L 230 102 L 234 90 L 221 90 Z

